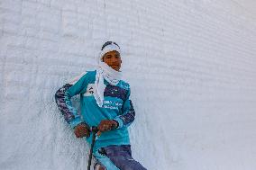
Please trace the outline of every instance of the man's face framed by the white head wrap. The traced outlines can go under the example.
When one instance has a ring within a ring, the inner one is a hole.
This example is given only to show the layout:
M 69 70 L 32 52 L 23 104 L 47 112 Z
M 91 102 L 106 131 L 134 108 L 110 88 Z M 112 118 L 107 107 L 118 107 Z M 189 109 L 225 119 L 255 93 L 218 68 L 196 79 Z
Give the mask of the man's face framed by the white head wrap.
M 105 53 L 103 62 L 105 62 L 109 67 L 112 67 L 115 71 L 119 71 L 121 68 L 122 60 L 119 52 L 113 50 Z

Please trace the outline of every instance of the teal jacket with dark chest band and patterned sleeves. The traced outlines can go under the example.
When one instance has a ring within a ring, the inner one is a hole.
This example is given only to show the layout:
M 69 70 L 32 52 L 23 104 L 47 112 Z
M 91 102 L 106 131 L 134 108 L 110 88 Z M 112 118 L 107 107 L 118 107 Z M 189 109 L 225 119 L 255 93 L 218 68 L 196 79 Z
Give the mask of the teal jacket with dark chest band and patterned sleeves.
M 103 107 L 96 103 L 95 92 L 96 70 L 88 71 L 75 83 L 63 85 L 55 94 L 60 112 L 71 128 L 86 122 L 88 126 L 98 126 L 100 121 L 114 120 L 118 122 L 115 130 L 105 131 L 96 138 L 94 151 L 111 145 L 130 145 L 127 127 L 134 121 L 135 112 L 130 97 L 130 85 L 120 80 L 117 85 L 109 85 L 105 81 Z M 81 113 L 71 103 L 71 97 L 80 95 Z M 92 135 L 87 138 L 91 144 Z

